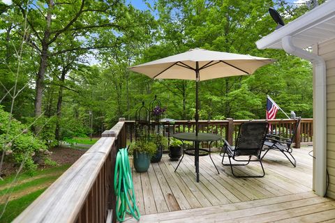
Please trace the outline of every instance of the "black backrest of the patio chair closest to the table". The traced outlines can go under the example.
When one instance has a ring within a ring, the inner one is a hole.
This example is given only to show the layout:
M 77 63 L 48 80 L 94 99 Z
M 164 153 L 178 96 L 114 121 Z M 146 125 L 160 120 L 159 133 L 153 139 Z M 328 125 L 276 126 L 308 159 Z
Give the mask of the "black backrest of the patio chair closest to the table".
M 260 152 L 269 130 L 269 123 L 242 123 L 239 136 L 234 149 L 234 155 L 255 155 L 260 157 Z

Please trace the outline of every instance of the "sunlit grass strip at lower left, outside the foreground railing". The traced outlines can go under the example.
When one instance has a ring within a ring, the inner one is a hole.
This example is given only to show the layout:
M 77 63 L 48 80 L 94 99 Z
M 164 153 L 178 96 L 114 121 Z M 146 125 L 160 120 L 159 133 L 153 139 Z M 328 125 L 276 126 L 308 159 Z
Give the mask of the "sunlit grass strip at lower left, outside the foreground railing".
M 61 174 L 70 167 L 69 164 L 52 167 L 47 169 L 40 169 L 36 171 L 34 176 L 29 176 L 27 173 L 22 173 L 17 178 L 17 183 L 10 187 L 15 176 L 8 176 L 0 181 L 0 213 L 4 208 L 4 202 L 11 191 L 11 198 L 6 206 L 5 212 L 0 218 L 1 222 L 12 222 L 17 215 L 29 206 L 43 191 L 51 185 L 54 180 L 59 178 Z

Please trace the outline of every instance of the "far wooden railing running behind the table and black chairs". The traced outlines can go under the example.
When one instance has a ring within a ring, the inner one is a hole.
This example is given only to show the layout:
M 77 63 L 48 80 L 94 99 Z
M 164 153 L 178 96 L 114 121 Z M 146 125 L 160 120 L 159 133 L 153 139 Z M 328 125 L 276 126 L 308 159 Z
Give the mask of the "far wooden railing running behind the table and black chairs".
M 214 134 L 220 134 L 223 139 L 226 139 L 230 144 L 234 144 L 236 141 L 239 125 L 241 123 L 248 122 L 249 120 L 233 120 L 227 118 L 227 120 L 221 121 L 199 121 L 200 132 L 210 132 Z M 265 120 L 254 120 L 254 121 L 265 121 Z M 296 120 L 292 119 L 274 119 L 268 121 L 271 125 L 271 131 L 274 134 L 281 135 L 282 137 L 290 138 L 293 131 L 295 130 Z M 144 123 L 145 124 L 145 123 Z M 162 132 L 166 137 L 170 137 L 172 134 L 177 132 L 194 132 L 195 121 L 174 121 L 174 122 L 151 122 L 151 126 L 161 126 Z M 142 123 L 143 125 L 143 123 Z M 148 124 L 149 125 L 149 124 Z M 153 128 L 154 129 L 154 128 Z M 126 121 L 126 136 L 128 141 L 135 139 L 135 121 Z M 301 142 L 312 142 L 313 141 L 313 118 L 302 118 L 297 129 L 295 137 L 295 147 L 300 148 Z M 214 144 L 218 146 L 218 142 Z

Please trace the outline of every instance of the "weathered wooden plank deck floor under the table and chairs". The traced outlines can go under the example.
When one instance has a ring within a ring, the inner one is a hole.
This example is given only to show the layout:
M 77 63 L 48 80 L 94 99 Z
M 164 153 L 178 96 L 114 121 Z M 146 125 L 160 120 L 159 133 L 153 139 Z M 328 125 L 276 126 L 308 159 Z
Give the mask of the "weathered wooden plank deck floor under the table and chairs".
M 195 182 L 193 157 L 178 162 L 163 156 L 147 173 L 133 171 L 140 222 L 335 222 L 335 201 L 311 191 L 312 147 L 295 149 L 297 167 L 270 151 L 263 160 L 264 178 L 234 178 L 218 153 L 200 157 L 200 183 Z M 258 164 L 237 167 L 239 174 L 255 174 Z M 136 222 L 133 219 L 127 222 Z

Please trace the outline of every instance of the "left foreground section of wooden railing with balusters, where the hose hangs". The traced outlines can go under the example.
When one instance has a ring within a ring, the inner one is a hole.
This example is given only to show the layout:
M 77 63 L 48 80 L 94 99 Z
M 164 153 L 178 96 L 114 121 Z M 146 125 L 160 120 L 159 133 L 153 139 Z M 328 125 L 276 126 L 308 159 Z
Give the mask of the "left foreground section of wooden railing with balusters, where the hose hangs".
M 125 130 L 120 118 L 14 222 L 116 222 L 114 167 Z

